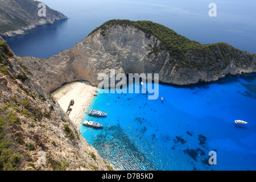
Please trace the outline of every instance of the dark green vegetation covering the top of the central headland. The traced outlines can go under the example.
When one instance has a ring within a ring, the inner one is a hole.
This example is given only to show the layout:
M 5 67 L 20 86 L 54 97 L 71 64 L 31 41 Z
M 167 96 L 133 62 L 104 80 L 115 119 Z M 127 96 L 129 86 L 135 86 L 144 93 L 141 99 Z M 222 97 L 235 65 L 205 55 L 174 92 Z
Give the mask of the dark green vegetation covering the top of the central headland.
M 243 60 L 241 55 L 248 56 L 249 60 L 253 60 L 253 55 L 246 51 L 230 46 L 228 43 L 213 43 L 213 44 L 200 44 L 194 40 L 189 40 L 185 36 L 177 34 L 174 30 L 163 26 L 162 24 L 154 23 L 147 20 L 131 21 L 131 20 L 119 20 L 113 19 L 105 22 L 100 27 L 97 27 L 89 35 L 92 35 L 97 30 L 102 30 L 101 35 L 105 36 L 108 27 L 119 24 L 121 26 L 134 26 L 138 30 L 146 33 L 146 37 L 150 38 L 151 35 L 155 36 L 161 41 L 160 49 L 166 50 L 170 53 L 172 60 L 176 59 L 180 67 L 197 67 L 200 68 L 201 63 L 189 63 L 187 59 L 190 55 L 197 58 L 203 58 L 205 63 L 210 65 L 217 65 L 218 60 L 224 61 L 224 66 L 229 64 L 230 60 L 241 61 Z M 89 36 L 88 35 L 88 36 Z M 151 46 L 151 45 L 149 45 Z M 150 53 L 155 53 L 158 56 L 159 50 L 156 47 L 151 47 Z M 199 60 L 199 59 L 197 59 Z M 204 66 L 205 67 L 205 66 Z

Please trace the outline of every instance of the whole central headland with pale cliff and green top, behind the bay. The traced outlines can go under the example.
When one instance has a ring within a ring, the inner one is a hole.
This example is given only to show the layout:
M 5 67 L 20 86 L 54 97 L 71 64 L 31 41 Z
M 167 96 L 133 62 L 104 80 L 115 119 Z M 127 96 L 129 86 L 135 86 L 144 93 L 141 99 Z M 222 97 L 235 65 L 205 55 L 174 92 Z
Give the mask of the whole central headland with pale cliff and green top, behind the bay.
M 226 43 L 199 44 L 159 24 L 129 20 L 110 20 L 59 55 L 20 61 L 47 92 L 76 80 L 97 85 L 98 73 L 110 69 L 116 74 L 159 73 L 160 82 L 176 85 L 256 72 L 255 54 Z

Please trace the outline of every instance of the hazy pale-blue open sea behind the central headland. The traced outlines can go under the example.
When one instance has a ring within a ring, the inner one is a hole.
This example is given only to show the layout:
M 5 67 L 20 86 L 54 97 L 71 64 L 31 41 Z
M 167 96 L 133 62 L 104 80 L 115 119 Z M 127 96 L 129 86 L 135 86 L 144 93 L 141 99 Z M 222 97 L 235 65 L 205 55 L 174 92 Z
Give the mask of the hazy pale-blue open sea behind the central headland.
M 41 58 L 56 55 L 110 19 L 151 20 L 199 43 L 226 42 L 256 53 L 254 1 L 214 1 L 216 17 L 209 16 L 209 3 L 203 0 L 42 2 L 70 19 L 35 28 L 27 35 L 5 38 L 16 55 Z

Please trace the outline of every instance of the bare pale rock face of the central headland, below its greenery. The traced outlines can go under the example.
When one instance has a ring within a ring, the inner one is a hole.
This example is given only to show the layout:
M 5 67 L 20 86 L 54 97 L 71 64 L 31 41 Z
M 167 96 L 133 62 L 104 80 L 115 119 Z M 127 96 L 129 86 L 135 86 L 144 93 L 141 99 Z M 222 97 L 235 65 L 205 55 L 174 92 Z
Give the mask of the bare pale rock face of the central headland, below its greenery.
M 163 64 L 166 53 L 158 59 L 154 59 L 154 55 L 148 56 L 150 47 L 147 44 L 157 43 L 156 38 L 147 40 L 144 32 L 134 27 L 118 26 L 109 31 L 109 40 L 98 31 L 59 55 L 48 59 L 20 57 L 20 61 L 31 68 L 32 74 L 48 92 L 75 80 L 97 85 L 97 74 L 109 73 L 112 68 L 115 73 L 127 74 L 160 71 L 160 64 L 156 65 L 154 61 Z

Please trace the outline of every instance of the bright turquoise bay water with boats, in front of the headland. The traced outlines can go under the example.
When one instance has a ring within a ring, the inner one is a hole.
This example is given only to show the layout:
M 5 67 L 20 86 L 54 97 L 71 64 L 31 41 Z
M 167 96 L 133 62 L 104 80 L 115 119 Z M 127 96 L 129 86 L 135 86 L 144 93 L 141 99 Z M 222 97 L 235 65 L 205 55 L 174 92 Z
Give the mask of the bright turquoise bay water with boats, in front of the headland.
M 81 124 L 80 131 L 118 170 L 256 169 L 256 74 L 186 87 L 159 84 L 158 100 L 102 93 L 90 109 L 108 113 L 84 115 L 103 127 Z M 209 164 L 210 151 L 217 164 Z

